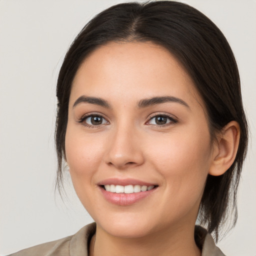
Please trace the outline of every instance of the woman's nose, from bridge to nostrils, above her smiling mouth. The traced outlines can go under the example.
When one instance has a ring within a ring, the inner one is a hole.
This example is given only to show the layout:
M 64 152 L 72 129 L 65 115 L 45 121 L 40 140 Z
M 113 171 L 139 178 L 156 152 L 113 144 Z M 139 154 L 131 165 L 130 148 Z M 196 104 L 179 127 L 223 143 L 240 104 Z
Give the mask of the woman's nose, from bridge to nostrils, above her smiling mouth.
M 124 125 L 123 125 L 124 126 Z M 109 136 L 105 163 L 117 169 L 135 167 L 144 162 L 141 139 L 134 127 L 116 127 Z

